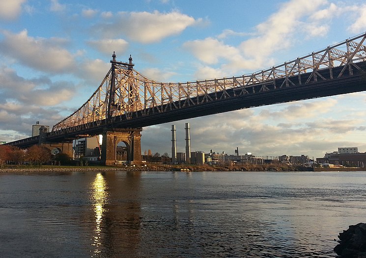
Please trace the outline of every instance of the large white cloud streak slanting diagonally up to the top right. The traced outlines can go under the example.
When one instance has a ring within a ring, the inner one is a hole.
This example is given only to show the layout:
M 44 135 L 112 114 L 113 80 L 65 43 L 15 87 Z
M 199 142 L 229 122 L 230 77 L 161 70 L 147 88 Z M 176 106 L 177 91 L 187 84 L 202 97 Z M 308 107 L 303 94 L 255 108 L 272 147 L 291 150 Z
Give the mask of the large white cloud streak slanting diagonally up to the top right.
M 275 62 L 271 55 L 276 51 L 292 47 L 298 31 L 304 32 L 309 29 L 310 32 L 306 32 L 309 39 L 329 30 L 327 25 L 322 26 L 321 22 L 315 22 L 316 19 L 320 19 L 320 13 L 316 16 L 318 18 L 309 19 L 317 8 L 325 4 L 327 4 L 326 0 L 291 0 L 282 3 L 276 13 L 258 24 L 251 33 L 225 29 L 217 38 L 208 37 L 203 40 L 187 41 L 183 47 L 206 65 L 221 63 L 220 67 L 213 68 L 217 71 L 214 77 L 218 77 L 218 74 L 232 75 L 243 73 L 243 70 L 253 72 L 256 69 L 267 68 L 269 64 L 273 65 Z M 329 8 L 329 12 L 335 8 L 332 6 Z M 228 36 L 245 35 L 252 35 L 252 37 L 237 46 L 225 44 Z

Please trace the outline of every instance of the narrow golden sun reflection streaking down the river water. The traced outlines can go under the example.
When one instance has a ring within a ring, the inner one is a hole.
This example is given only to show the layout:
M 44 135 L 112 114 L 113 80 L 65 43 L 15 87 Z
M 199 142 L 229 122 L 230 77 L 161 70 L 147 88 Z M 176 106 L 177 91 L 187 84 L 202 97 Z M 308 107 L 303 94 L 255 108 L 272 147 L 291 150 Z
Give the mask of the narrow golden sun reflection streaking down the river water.
M 103 214 L 105 212 L 104 205 L 107 202 L 108 192 L 107 183 L 104 176 L 101 173 L 97 173 L 95 179 L 92 183 L 92 201 L 95 212 L 95 229 L 94 229 L 94 241 L 92 246 L 94 246 L 94 255 L 101 252 L 100 247 L 102 245 L 102 227 Z M 93 257 L 93 256 L 92 256 Z

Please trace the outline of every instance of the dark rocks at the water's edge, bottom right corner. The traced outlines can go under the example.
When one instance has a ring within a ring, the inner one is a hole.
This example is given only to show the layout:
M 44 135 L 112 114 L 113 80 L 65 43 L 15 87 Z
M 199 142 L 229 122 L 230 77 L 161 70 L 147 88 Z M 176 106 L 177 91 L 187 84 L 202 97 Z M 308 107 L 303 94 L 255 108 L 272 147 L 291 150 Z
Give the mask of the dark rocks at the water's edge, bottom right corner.
M 334 251 L 342 258 L 366 258 L 366 224 L 351 225 L 338 235 Z

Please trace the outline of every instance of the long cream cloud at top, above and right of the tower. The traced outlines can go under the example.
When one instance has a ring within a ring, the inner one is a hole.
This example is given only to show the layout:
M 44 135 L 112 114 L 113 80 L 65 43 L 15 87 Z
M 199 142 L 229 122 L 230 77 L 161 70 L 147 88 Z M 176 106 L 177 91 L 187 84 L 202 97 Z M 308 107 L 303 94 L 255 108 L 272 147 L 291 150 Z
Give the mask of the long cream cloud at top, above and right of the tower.
M 101 23 L 94 26 L 93 31 L 109 38 L 126 35 L 130 40 L 148 44 L 177 35 L 197 23 L 199 21 L 193 17 L 176 11 L 120 12 L 113 23 Z

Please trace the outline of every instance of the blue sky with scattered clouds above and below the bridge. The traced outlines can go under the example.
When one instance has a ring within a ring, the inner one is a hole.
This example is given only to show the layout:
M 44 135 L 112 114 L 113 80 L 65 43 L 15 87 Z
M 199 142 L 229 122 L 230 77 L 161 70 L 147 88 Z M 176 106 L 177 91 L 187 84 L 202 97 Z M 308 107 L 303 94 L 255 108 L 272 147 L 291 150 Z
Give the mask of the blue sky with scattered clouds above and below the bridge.
M 366 31 L 364 0 L 0 0 L 0 141 L 27 138 L 92 95 L 117 60 L 159 82 L 264 70 Z M 141 150 L 323 157 L 366 152 L 366 93 L 144 127 Z

